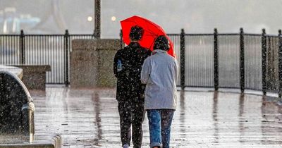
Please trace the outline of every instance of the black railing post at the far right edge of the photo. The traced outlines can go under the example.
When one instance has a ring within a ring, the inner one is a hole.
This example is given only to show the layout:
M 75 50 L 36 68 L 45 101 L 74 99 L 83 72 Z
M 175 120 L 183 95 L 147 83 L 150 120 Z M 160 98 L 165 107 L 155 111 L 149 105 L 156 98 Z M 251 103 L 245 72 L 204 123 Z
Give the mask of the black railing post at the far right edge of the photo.
M 279 42 L 278 42 L 278 73 L 279 73 L 279 92 L 278 96 L 281 98 L 282 96 L 282 34 L 281 30 L 278 30 L 278 37 L 279 37 Z

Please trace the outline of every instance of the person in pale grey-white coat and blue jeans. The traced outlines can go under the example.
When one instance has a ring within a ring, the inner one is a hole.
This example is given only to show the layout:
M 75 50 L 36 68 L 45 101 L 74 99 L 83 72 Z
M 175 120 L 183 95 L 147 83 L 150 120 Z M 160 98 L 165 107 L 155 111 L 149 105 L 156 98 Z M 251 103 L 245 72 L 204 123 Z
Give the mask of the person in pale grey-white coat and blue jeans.
M 141 70 L 141 82 L 146 84 L 145 110 L 149 121 L 150 147 L 169 147 L 171 123 L 176 110 L 178 62 L 167 54 L 169 42 L 159 36 L 152 56 L 146 58 Z

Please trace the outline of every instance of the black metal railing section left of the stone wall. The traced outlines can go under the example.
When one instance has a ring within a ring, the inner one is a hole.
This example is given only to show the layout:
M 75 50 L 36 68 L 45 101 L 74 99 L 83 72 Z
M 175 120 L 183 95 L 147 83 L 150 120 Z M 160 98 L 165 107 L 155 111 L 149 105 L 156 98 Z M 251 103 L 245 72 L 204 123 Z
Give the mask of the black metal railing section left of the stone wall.
M 50 65 L 48 84 L 69 84 L 69 55 L 73 39 L 93 39 L 93 35 L 0 35 L 0 64 Z

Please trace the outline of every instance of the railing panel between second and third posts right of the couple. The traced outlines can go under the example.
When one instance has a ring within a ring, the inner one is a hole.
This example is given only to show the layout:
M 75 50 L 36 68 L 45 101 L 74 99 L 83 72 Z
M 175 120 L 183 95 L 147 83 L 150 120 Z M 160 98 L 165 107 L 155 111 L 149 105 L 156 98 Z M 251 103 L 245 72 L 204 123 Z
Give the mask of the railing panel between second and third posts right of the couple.
M 219 34 L 219 87 L 240 88 L 240 35 Z

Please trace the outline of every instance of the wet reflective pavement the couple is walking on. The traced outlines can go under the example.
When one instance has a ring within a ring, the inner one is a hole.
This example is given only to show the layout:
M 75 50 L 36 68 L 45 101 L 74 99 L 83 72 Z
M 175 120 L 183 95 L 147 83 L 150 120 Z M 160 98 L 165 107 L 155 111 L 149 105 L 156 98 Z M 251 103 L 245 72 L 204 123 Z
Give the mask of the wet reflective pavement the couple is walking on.
M 35 133 L 61 134 L 63 148 L 121 147 L 115 90 L 47 87 L 30 92 Z M 282 147 L 282 107 L 260 95 L 178 92 L 171 147 Z M 143 147 L 149 147 L 147 116 Z

